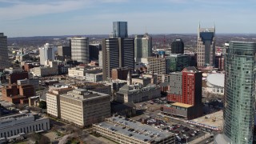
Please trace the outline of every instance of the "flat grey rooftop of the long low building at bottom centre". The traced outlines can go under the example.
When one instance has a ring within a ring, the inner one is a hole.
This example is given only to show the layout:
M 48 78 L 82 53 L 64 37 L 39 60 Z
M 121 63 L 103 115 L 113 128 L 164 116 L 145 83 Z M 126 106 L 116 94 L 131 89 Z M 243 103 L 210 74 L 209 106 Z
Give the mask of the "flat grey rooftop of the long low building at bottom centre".
M 106 122 L 101 122 L 97 126 L 101 126 L 107 130 L 112 130 L 115 133 L 123 134 L 131 138 L 147 142 L 160 141 L 165 138 L 174 137 L 174 134 L 160 129 L 154 128 L 153 126 L 142 124 L 131 119 L 126 119 L 121 116 L 108 118 Z

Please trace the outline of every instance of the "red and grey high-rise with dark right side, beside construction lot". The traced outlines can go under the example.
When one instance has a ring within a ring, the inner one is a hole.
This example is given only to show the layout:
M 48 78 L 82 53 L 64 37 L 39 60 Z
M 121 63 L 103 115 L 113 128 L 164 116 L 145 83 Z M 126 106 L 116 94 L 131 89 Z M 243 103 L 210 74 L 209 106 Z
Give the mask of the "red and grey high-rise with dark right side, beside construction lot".
M 186 117 L 188 119 L 202 116 L 202 72 L 196 70 L 194 66 L 190 66 L 184 68 L 180 73 L 171 73 L 170 94 L 167 95 L 167 100 L 177 102 L 180 107 L 183 106 L 182 104 L 190 105 L 183 107 L 184 109 L 190 107 L 192 114 L 190 117 Z M 166 111 L 168 111 L 167 109 L 177 109 L 177 106 L 165 106 L 165 109 Z

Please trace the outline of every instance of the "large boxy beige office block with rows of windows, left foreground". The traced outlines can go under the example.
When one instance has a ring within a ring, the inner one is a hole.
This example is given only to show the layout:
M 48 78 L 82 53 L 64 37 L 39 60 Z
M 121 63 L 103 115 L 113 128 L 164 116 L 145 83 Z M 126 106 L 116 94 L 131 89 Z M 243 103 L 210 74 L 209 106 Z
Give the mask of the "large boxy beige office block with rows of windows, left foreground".
M 61 118 L 78 126 L 90 126 L 110 117 L 110 95 L 75 89 L 60 95 Z

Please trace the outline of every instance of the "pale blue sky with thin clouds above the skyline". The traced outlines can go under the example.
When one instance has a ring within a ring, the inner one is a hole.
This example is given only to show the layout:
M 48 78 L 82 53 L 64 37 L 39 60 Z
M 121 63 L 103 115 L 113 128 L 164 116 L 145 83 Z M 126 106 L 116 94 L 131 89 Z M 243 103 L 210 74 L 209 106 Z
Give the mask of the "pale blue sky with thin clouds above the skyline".
M 255 0 L 0 0 L 0 32 L 8 37 L 110 34 L 256 34 Z

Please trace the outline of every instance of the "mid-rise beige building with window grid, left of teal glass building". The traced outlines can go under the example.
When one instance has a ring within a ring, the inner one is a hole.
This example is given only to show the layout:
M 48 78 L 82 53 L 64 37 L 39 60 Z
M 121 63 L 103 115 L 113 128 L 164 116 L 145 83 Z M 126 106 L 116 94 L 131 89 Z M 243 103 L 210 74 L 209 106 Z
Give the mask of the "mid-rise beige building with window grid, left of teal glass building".
M 156 74 L 166 74 L 166 58 L 147 58 L 147 71 Z

